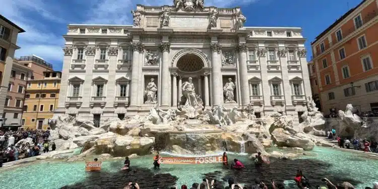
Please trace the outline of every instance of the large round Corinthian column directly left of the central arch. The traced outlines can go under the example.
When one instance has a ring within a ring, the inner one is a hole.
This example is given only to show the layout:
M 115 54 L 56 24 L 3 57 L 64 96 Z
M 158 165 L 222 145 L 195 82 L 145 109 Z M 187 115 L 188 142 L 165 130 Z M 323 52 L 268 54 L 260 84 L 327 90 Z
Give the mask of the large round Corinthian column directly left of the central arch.
M 169 76 L 169 48 L 170 43 L 163 42 L 160 45 L 160 49 L 163 52 L 163 61 L 161 65 L 161 106 L 171 106 L 170 95 L 170 76 Z

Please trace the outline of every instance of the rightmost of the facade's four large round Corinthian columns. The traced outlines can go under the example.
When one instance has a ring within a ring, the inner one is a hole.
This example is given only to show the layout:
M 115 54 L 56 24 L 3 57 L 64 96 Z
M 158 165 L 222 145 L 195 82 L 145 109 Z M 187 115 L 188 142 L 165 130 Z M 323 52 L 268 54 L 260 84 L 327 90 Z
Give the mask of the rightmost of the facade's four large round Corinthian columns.
M 240 64 L 239 64 L 239 77 L 241 82 L 241 104 L 249 104 L 249 86 L 248 86 L 248 75 L 247 75 L 247 45 L 245 43 L 239 44 L 237 50 L 240 54 Z

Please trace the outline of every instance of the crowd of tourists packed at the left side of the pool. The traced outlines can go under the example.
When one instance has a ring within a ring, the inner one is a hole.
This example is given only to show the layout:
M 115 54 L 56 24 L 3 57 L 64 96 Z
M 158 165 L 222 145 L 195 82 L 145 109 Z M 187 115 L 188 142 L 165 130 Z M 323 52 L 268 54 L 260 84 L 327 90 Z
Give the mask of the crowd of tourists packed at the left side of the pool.
M 48 141 L 49 135 L 49 130 L 0 131 L 0 167 L 6 162 L 37 156 L 41 151 L 48 152 L 50 146 L 51 150 L 55 150 L 55 144 Z M 32 141 L 17 144 L 26 138 Z

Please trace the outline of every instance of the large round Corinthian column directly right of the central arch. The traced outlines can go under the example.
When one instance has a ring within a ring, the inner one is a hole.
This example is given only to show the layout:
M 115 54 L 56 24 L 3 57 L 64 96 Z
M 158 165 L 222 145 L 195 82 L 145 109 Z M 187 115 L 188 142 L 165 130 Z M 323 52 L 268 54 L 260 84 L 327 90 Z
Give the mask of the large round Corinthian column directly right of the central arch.
M 222 73 L 221 64 L 218 62 L 218 54 L 221 52 L 221 45 L 219 43 L 211 43 L 212 51 L 212 86 L 213 86 L 213 106 L 223 104 L 223 92 L 222 92 Z

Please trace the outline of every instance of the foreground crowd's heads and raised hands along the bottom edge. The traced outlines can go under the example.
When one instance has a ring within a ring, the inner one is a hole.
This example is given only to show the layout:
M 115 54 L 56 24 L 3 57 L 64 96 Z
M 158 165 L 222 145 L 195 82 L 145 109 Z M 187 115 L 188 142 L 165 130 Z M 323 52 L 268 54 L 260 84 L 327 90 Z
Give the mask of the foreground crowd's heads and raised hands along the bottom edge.
M 294 181 L 299 189 L 308 189 L 308 188 L 316 188 L 316 189 L 354 189 L 355 187 L 349 182 L 342 182 L 339 184 L 332 183 L 328 178 L 322 178 L 321 181 L 324 182 L 324 185 L 310 185 L 309 179 L 307 179 L 301 170 L 298 170 Z M 209 182 L 208 179 L 203 179 L 201 183 L 193 183 L 192 186 L 181 185 L 181 189 L 284 189 L 285 184 L 283 182 L 275 182 L 272 178 L 270 183 L 265 183 L 264 181 L 260 180 L 259 178 L 255 179 L 255 183 L 252 185 L 242 185 L 240 183 L 236 183 L 233 178 L 228 179 L 228 186 L 224 187 L 222 182 L 217 180 L 211 179 Z M 365 189 L 378 189 L 378 182 L 374 182 L 372 184 L 373 187 L 365 187 Z M 140 189 L 140 186 L 136 182 L 129 182 L 123 189 Z M 176 187 L 171 187 L 171 189 L 177 189 Z

